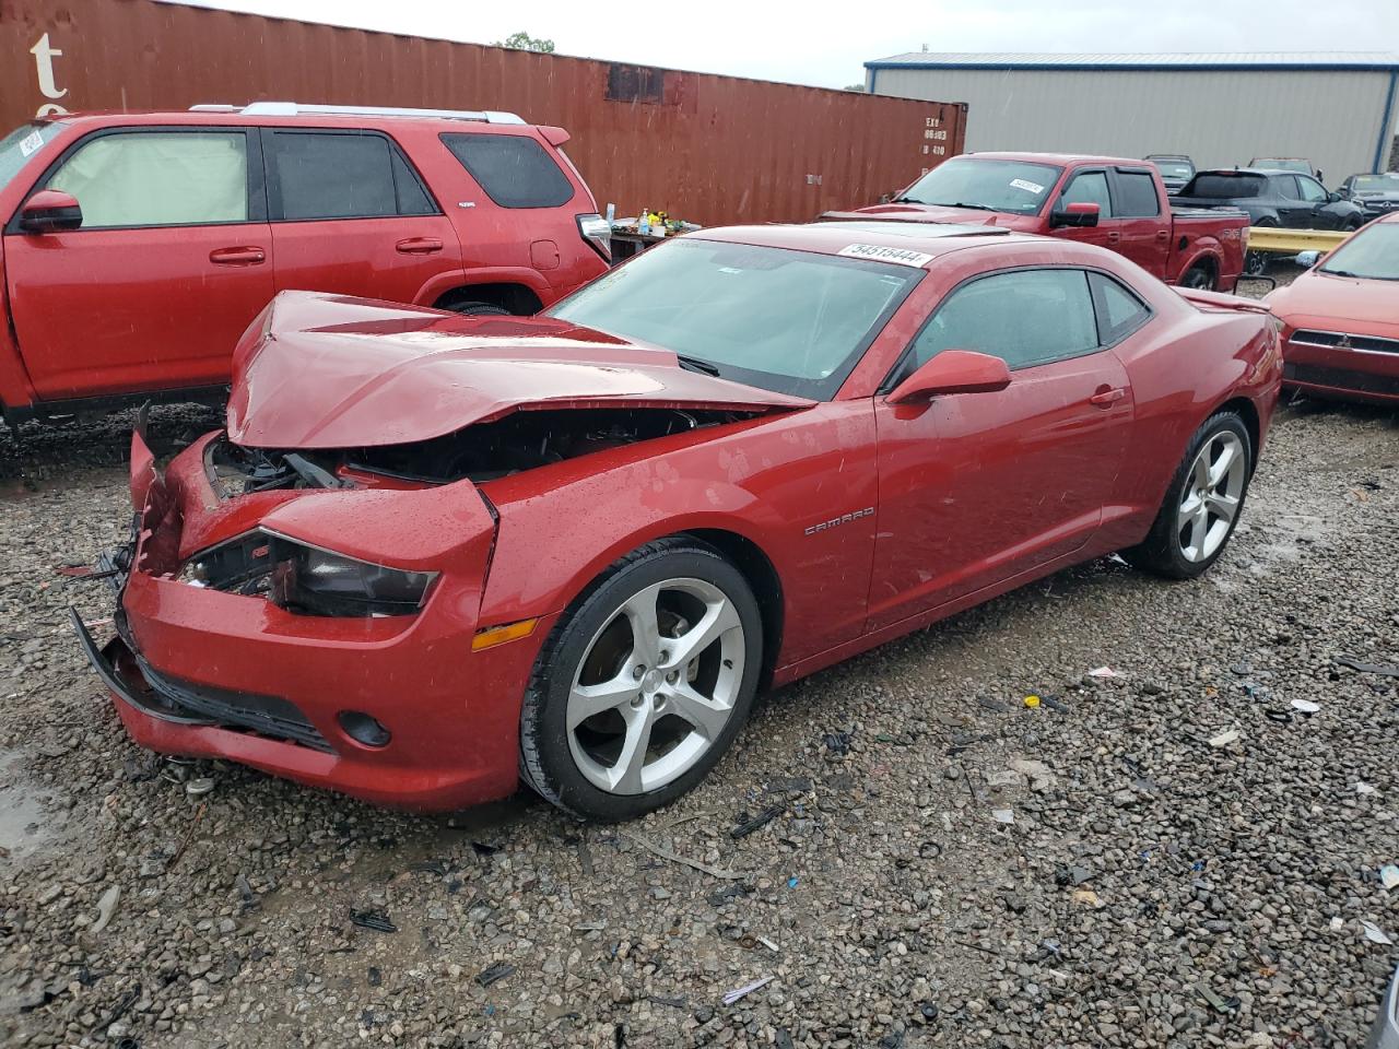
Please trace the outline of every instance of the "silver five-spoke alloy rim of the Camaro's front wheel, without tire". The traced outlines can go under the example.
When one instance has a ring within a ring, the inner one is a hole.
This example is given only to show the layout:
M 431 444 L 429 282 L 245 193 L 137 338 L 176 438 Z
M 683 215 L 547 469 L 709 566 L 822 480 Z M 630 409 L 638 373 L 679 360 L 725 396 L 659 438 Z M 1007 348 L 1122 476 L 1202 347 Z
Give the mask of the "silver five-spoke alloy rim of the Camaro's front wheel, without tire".
M 667 579 L 620 604 L 568 691 L 568 748 L 583 778 L 642 794 L 694 768 L 733 716 L 744 642 L 739 610 L 704 579 Z

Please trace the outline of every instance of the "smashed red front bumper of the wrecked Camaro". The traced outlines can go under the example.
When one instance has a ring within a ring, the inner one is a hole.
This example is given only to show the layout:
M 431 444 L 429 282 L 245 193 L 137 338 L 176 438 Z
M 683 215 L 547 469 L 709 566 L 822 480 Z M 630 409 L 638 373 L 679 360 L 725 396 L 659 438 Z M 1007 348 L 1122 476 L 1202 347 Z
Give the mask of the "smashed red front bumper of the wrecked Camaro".
M 133 438 L 134 536 L 102 564 L 113 571 L 116 636 L 99 646 L 71 614 L 133 740 L 409 808 L 460 808 L 512 793 L 523 683 L 548 621 L 532 638 L 473 652 L 494 531 L 473 536 L 457 508 L 469 540 L 452 554 L 431 550 L 432 537 L 413 523 L 442 520 L 428 512 L 442 490 L 224 501 L 204 470 L 207 441 L 159 474 L 144 441 Z M 448 571 L 417 614 L 361 618 L 295 614 L 264 596 L 182 579 L 192 552 L 246 527 L 253 511 L 239 504 L 249 502 L 306 541 L 320 538 L 308 522 L 325 522 L 355 552 L 383 538 L 365 519 L 388 515 L 399 550 L 411 557 L 421 540 L 422 555 Z M 386 733 L 375 745 L 355 732 L 367 718 Z

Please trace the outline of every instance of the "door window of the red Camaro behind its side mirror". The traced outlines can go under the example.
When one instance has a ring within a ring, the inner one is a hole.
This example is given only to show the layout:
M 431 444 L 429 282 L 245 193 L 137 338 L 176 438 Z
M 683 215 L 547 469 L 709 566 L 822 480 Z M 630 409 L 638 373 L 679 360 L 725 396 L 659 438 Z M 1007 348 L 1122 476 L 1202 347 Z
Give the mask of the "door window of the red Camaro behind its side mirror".
M 1014 270 L 957 288 L 914 340 L 914 366 L 943 350 L 975 350 L 1028 368 L 1098 348 L 1083 270 Z

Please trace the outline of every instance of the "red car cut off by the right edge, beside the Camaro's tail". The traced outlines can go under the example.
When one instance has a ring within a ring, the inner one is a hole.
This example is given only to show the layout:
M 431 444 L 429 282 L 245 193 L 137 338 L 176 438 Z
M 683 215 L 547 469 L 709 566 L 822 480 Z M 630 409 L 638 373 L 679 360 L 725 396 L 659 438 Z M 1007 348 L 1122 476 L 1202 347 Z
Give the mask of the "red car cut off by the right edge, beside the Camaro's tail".
M 1287 386 L 1399 404 L 1399 214 L 1361 227 L 1267 305 L 1283 322 Z

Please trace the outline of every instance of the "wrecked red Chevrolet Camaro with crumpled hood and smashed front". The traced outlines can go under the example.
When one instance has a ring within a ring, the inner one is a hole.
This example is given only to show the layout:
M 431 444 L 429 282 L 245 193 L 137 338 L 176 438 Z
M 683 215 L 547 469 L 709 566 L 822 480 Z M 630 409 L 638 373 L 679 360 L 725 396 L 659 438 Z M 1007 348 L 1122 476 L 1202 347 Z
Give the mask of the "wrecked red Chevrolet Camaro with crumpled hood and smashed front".
M 372 801 L 693 787 L 761 688 L 1122 551 L 1203 572 L 1281 379 L 1255 302 L 993 227 L 667 242 L 533 319 L 287 292 L 227 431 L 133 438 L 130 734 Z

